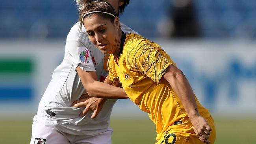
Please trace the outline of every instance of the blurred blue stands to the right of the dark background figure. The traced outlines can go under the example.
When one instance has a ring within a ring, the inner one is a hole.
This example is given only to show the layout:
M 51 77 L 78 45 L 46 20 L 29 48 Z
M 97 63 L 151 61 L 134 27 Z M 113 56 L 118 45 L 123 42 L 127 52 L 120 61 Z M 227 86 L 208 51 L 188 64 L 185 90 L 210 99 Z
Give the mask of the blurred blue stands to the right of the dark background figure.
M 256 0 L 193 0 L 203 37 L 256 38 Z

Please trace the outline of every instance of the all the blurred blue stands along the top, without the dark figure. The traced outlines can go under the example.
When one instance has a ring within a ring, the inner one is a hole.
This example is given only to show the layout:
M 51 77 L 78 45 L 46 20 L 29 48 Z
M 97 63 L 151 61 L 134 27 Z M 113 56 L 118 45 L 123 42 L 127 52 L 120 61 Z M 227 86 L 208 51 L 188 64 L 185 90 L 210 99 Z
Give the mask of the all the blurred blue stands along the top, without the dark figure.
M 121 21 L 144 37 L 170 33 L 174 0 L 130 0 Z M 186 1 L 186 0 L 176 0 Z M 191 0 L 202 38 L 256 38 L 256 0 Z M 0 38 L 65 38 L 74 0 L 0 0 Z

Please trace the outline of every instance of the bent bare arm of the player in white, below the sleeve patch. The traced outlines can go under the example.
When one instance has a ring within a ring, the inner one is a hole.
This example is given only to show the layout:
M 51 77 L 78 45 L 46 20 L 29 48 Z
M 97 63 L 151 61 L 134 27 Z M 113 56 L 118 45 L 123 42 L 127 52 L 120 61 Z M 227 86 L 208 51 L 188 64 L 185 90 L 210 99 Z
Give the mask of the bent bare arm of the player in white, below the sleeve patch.
M 89 96 L 97 98 L 128 98 L 124 90 L 120 87 L 115 87 L 107 83 L 97 81 L 95 71 L 86 72 L 79 66 L 76 67 L 79 78 L 82 81 L 83 87 Z

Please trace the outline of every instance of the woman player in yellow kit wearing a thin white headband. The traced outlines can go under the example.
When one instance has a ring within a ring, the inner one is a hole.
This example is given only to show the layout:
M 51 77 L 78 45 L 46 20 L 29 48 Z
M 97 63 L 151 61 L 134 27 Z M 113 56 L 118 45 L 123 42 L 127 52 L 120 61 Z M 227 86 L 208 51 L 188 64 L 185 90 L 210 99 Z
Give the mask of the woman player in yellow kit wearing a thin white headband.
M 156 144 L 214 143 L 216 132 L 207 109 L 186 77 L 161 47 L 120 28 L 107 2 L 91 2 L 80 12 L 89 40 L 108 60 L 106 83 L 122 85 L 128 97 L 156 124 Z M 111 98 L 106 96 L 105 98 Z

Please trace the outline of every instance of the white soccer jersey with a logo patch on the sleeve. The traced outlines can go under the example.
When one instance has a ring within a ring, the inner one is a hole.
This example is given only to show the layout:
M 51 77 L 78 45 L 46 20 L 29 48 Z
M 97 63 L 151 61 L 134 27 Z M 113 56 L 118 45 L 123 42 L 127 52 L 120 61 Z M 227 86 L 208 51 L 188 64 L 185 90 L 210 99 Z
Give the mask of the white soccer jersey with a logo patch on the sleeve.
M 136 33 L 121 23 L 125 33 Z M 116 100 L 109 99 L 95 119 L 91 119 L 92 111 L 82 118 L 82 108 L 70 107 L 72 103 L 86 94 L 76 66 L 85 71 L 95 71 L 100 78 L 106 77 L 108 55 L 104 55 L 88 39 L 85 28 L 79 31 L 77 22 L 71 28 L 65 46 L 62 63 L 54 70 L 45 94 L 43 95 L 36 119 L 50 122 L 57 129 L 72 135 L 95 135 L 108 130 L 109 118 Z

